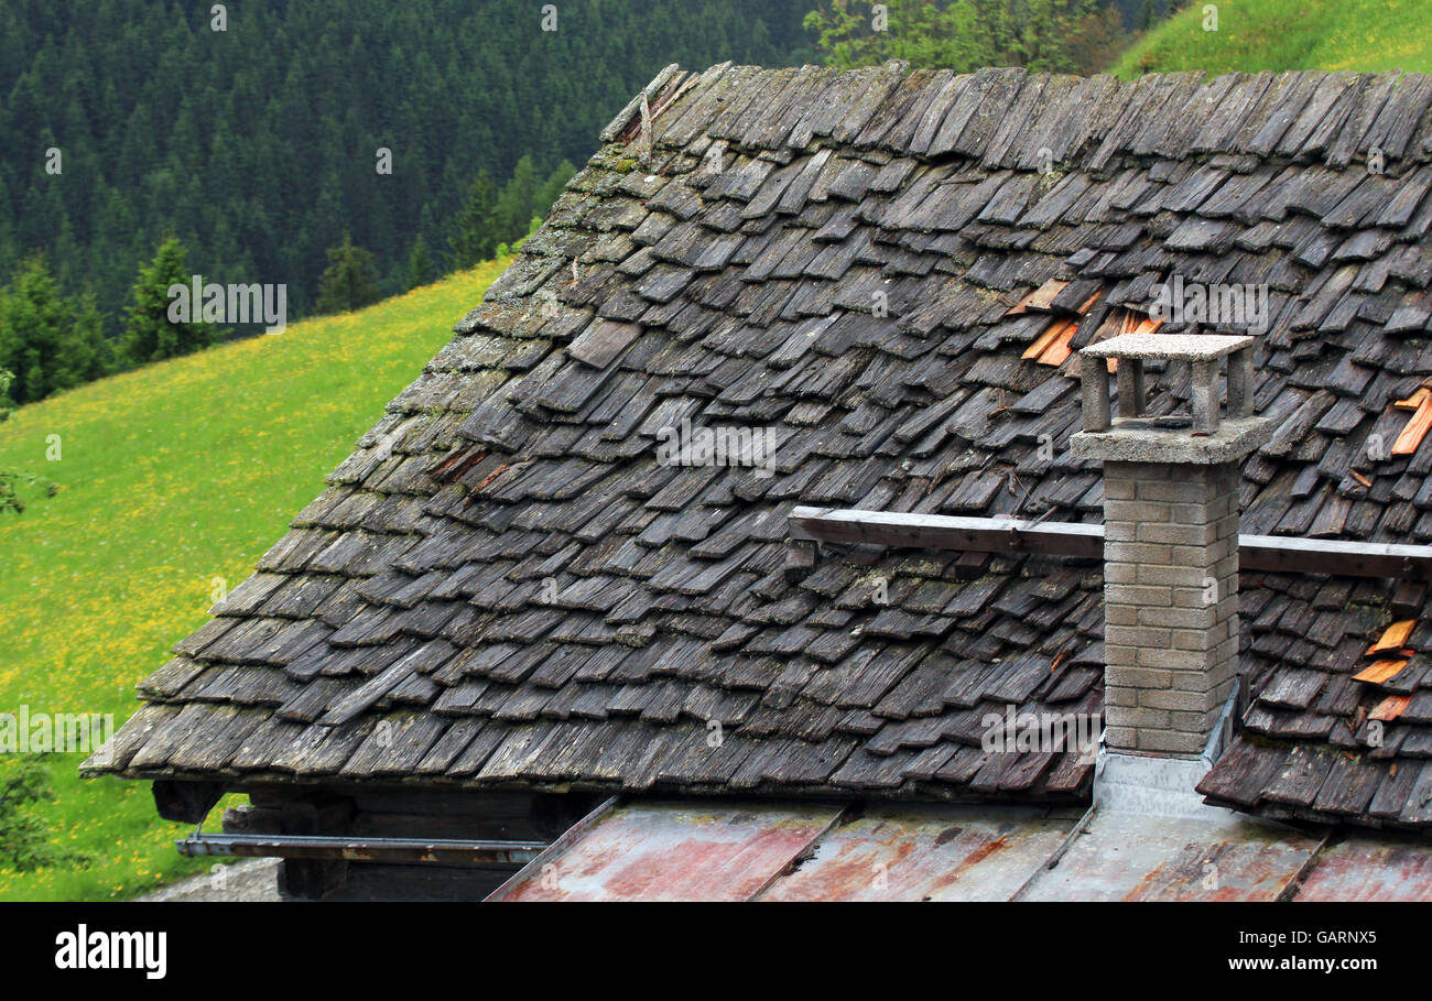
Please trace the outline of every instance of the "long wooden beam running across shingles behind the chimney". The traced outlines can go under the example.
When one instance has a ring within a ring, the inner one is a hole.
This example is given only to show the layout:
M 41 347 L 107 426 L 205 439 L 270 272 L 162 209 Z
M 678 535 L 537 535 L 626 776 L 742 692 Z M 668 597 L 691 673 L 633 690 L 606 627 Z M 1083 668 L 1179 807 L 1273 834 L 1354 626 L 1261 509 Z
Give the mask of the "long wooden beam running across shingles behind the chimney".
M 1101 558 L 1104 527 L 1070 521 L 967 518 L 798 507 L 788 518 L 792 541 L 942 548 L 967 553 L 1035 553 Z M 1432 546 L 1348 543 L 1286 536 L 1239 536 L 1239 567 L 1339 577 L 1432 579 Z

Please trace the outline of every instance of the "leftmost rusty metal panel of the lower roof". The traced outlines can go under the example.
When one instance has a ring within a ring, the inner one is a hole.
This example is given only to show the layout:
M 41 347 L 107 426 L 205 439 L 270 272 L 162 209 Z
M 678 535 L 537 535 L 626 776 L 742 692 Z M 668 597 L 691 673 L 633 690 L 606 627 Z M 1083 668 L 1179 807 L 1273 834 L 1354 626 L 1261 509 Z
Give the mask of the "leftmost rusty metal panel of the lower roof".
M 729 801 L 614 805 L 488 899 L 746 901 L 833 825 L 841 809 Z

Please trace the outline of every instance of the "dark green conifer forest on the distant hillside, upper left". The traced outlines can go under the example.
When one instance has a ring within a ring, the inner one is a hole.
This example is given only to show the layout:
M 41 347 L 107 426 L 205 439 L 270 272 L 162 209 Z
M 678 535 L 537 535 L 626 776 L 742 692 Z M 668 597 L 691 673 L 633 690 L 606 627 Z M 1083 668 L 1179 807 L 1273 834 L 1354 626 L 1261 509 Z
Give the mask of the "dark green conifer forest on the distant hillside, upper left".
M 473 175 L 485 169 L 488 198 L 454 258 L 491 258 L 560 193 L 546 169 L 581 163 L 613 109 L 660 66 L 813 62 L 802 14 L 829 4 L 581 0 L 587 13 L 564 13 L 576 20 L 534 40 L 528 19 L 505 16 L 507 0 L 345 0 L 337 19 L 334 4 L 265 0 L 248 17 L 231 4 L 233 44 L 219 50 L 209 4 L 185 4 L 182 16 L 168 0 L 100 0 L 82 4 L 84 16 L 73 6 L 0 3 L 0 149 L 27 150 L 0 156 L 0 282 L 43 249 L 66 292 L 93 288 L 113 338 L 137 265 L 169 232 L 193 271 L 286 281 L 296 319 L 345 226 L 374 252 L 382 291 L 401 288 L 417 232 L 442 272 Z M 491 72 L 513 53 L 523 73 Z M 62 176 L 44 170 L 50 146 L 63 152 Z M 375 183 L 378 146 L 394 152 L 394 183 Z M 520 176 L 523 153 L 543 169 L 536 183 Z M 508 225 L 494 228 L 500 193 L 510 193 Z

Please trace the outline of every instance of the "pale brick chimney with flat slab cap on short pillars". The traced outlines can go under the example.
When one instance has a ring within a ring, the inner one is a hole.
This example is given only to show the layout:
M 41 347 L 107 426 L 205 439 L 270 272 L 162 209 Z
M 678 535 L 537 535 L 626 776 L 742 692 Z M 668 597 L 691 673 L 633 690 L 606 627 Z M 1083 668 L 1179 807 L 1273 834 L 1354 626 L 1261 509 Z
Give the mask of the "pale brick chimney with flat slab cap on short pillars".
M 1211 763 L 1239 666 L 1239 467 L 1273 431 L 1253 415 L 1253 338 L 1126 334 L 1080 355 L 1084 431 L 1070 444 L 1104 464 L 1106 750 Z M 1191 368 L 1191 412 L 1146 415 L 1148 361 Z M 1191 790 L 1189 775 L 1174 785 Z

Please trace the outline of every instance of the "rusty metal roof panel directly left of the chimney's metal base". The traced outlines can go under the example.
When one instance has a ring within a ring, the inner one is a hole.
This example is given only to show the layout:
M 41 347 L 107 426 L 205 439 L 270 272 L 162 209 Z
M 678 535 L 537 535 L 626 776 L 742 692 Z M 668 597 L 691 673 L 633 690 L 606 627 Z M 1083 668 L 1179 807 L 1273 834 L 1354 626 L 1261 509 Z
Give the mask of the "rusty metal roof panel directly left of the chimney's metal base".
M 876 806 L 833 828 L 763 901 L 1007 901 L 1074 816 L 984 806 Z

